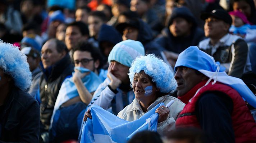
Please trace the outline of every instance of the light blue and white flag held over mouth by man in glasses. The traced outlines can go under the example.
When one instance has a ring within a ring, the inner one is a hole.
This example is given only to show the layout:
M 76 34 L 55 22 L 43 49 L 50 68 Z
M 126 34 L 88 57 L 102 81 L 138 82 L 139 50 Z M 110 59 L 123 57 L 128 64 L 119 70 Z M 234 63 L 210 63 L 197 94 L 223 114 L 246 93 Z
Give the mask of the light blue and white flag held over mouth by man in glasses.
M 84 86 L 87 88 L 87 90 L 90 93 L 95 92 L 98 86 L 102 83 L 102 80 L 94 72 L 90 71 L 89 69 L 82 68 L 82 67 L 75 67 L 74 69 L 79 70 L 81 73 L 90 72 L 90 74 L 86 75 L 82 79 Z M 72 74 L 74 74 L 74 72 Z M 69 99 L 72 99 L 77 96 L 79 96 L 79 94 L 77 92 L 77 87 L 74 84 L 72 77 L 65 79 L 60 87 L 60 91 L 54 105 L 51 123 L 52 123 L 54 114 L 56 110 L 59 109 L 60 105 L 67 102 Z

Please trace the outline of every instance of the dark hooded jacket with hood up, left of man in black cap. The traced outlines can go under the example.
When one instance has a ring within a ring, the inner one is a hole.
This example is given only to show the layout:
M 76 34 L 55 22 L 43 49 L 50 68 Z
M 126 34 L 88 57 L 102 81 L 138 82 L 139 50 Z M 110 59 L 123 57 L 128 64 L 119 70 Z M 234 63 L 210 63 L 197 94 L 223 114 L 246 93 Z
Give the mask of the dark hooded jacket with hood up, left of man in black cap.
M 191 34 L 185 37 L 174 37 L 169 30 L 175 18 L 184 18 L 192 23 Z M 175 8 L 170 17 L 168 27 L 163 33 L 163 36 L 155 39 L 155 42 L 163 47 L 165 50 L 173 51 L 174 53 L 181 53 L 189 46 L 196 46 L 198 43 L 205 39 L 204 31 L 197 27 L 196 19 L 192 13 L 185 7 Z

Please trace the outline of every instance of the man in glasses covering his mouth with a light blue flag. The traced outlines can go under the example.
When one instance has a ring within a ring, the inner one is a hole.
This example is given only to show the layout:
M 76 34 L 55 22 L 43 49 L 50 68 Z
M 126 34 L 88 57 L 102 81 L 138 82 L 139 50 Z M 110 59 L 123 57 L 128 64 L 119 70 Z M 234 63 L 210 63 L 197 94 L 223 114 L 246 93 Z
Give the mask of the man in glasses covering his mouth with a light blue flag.
M 61 84 L 51 118 L 50 142 L 77 139 L 86 106 L 102 83 L 99 77 L 102 58 L 99 49 L 83 43 L 74 49 L 73 76 Z M 80 115 L 81 114 L 81 115 Z M 67 126 L 67 124 L 69 124 Z

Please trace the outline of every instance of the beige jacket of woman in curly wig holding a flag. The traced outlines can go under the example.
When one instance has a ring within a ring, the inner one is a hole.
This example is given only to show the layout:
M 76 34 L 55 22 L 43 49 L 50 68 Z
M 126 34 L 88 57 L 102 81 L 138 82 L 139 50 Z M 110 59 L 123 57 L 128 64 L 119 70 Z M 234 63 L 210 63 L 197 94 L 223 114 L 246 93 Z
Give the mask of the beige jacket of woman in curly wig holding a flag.
M 175 119 L 178 116 L 178 113 L 184 108 L 185 104 L 181 102 L 179 99 L 172 97 L 170 95 L 165 95 L 163 97 L 159 97 L 156 99 L 154 103 L 152 103 L 148 109 L 151 110 L 154 108 L 157 104 L 163 102 L 164 104 L 167 104 L 171 100 L 174 100 L 174 103 L 170 106 L 170 113 L 167 117 L 167 119 L 161 123 L 157 124 L 157 132 L 160 135 L 165 135 L 166 132 L 169 132 L 170 130 L 175 129 Z M 133 121 L 140 118 L 145 113 L 143 112 L 141 105 L 139 101 L 135 98 L 131 104 L 129 104 L 127 107 L 125 107 L 122 111 L 118 113 L 118 117 L 127 121 Z

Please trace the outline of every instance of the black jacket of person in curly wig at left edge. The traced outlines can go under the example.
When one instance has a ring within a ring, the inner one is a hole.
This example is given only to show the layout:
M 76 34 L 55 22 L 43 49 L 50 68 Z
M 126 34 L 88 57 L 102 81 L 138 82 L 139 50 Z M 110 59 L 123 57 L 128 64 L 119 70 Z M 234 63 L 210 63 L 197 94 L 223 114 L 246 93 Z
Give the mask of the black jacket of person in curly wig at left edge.
M 40 110 L 35 98 L 13 87 L 0 110 L 0 143 L 38 143 Z

